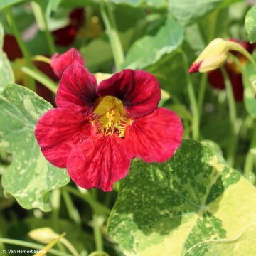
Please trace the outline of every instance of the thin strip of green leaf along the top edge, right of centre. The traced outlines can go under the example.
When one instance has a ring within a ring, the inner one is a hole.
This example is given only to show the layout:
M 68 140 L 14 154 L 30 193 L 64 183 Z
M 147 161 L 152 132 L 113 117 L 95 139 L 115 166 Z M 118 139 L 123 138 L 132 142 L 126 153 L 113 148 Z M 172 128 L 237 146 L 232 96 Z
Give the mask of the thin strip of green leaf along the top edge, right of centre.
M 164 8 L 166 0 L 110 0 L 113 4 L 129 4 L 134 7 Z

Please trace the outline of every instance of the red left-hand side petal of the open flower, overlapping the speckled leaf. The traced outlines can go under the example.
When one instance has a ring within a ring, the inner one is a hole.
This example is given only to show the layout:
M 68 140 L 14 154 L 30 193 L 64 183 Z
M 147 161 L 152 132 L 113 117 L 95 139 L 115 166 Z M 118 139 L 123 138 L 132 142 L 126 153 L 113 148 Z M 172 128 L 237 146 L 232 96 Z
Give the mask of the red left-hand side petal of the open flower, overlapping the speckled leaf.
M 48 110 L 35 129 L 43 155 L 58 167 L 66 166 L 70 151 L 91 133 L 92 124 L 86 114 L 62 108 Z

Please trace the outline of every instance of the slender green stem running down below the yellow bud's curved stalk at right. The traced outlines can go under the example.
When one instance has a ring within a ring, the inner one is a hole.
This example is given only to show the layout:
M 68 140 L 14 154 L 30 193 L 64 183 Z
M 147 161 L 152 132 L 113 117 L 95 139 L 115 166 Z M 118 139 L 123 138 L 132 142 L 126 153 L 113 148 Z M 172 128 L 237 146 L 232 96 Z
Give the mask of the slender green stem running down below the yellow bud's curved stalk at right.
M 227 94 L 227 99 L 228 99 L 228 108 L 229 108 L 229 118 L 230 118 L 230 124 L 232 127 L 232 131 L 230 133 L 230 143 L 228 147 L 228 154 L 227 154 L 227 159 L 228 163 L 230 166 L 233 166 L 234 164 L 234 157 L 235 157 L 235 150 L 237 146 L 237 129 L 236 129 L 236 119 L 237 119 L 237 113 L 236 113 L 236 107 L 235 107 L 235 99 L 233 95 L 233 87 L 231 85 L 230 79 L 228 77 L 228 73 L 225 70 L 225 68 L 221 67 L 220 68 L 223 78 L 225 81 L 225 90 Z

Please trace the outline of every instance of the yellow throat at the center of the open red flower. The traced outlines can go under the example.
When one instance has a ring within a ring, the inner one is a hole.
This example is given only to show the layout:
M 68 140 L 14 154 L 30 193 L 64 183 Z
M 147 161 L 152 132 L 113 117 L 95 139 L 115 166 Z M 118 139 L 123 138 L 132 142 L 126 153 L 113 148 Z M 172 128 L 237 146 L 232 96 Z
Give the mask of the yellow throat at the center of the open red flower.
M 100 117 L 100 132 L 113 134 L 119 132 L 119 136 L 124 136 L 122 121 L 125 110 L 122 101 L 113 96 L 100 97 L 96 102 L 94 114 Z

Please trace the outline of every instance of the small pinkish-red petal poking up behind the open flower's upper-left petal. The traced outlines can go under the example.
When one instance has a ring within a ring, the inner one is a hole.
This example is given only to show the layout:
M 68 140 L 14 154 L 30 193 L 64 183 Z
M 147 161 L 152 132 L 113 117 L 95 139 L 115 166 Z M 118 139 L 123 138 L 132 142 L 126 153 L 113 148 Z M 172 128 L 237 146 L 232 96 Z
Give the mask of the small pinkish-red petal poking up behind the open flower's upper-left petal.
M 63 54 L 55 53 L 50 61 L 50 66 L 53 68 L 54 73 L 61 78 L 63 72 L 69 65 L 73 63 L 80 63 L 80 65 L 85 65 L 85 60 L 82 58 L 81 53 L 75 48 L 70 48 Z

